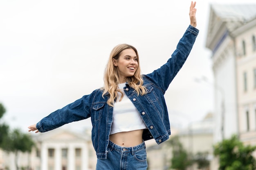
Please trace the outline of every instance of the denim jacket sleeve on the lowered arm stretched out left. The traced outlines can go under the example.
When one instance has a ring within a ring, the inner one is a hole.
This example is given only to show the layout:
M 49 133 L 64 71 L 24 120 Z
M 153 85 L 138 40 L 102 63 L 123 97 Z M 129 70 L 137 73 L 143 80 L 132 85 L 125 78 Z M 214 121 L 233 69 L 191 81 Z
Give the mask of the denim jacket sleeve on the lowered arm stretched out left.
M 91 95 L 85 95 L 62 109 L 52 112 L 40 120 L 36 124 L 36 128 L 39 132 L 47 132 L 64 124 L 89 118 Z

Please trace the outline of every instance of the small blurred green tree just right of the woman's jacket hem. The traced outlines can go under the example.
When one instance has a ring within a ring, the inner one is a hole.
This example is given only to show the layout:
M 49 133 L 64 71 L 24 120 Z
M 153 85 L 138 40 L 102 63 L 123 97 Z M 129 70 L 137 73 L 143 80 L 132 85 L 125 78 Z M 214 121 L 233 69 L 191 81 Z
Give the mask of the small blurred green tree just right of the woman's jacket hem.
M 173 148 L 173 157 L 171 158 L 170 168 L 186 170 L 186 168 L 192 164 L 189 153 L 183 148 L 178 136 L 174 136 L 170 139 L 170 144 Z

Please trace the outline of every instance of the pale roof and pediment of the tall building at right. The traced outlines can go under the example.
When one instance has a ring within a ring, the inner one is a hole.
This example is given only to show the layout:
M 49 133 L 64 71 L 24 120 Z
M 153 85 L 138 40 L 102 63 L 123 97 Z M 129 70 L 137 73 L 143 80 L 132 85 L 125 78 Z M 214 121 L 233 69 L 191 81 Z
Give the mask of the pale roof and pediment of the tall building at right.
M 255 20 L 255 4 L 211 4 L 206 47 L 214 53 L 225 37 Z

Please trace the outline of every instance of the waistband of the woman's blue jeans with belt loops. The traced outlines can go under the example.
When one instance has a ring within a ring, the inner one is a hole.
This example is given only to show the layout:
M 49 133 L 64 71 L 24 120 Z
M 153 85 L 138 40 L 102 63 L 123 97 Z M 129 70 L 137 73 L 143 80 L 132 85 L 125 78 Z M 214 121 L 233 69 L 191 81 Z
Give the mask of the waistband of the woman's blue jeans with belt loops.
M 139 144 L 137 146 L 133 146 L 133 147 L 122 147 L 122 146 L 119 146 L 119 145 L 114 144 L 113 142 L 109 141 L 108 146 L 109 146 L 110 150 L 116 150 L 120 153 L 132 153 L 132 155 L 136 151 L 146 148 L 144 141 L 141 144 Z

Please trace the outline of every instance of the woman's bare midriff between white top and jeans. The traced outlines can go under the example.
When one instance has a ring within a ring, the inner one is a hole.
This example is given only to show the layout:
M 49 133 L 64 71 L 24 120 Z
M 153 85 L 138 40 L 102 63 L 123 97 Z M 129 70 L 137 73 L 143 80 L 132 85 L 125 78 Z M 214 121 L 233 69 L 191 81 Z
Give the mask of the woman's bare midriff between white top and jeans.
M 133 147 L 141 144 L 143 129 L 129 131 L 129 132 L 119 132 L 109 136 L 109 139 L 114 144 L 122 147 Z

